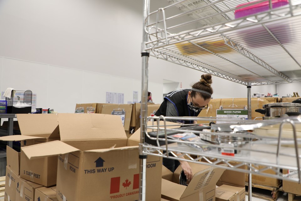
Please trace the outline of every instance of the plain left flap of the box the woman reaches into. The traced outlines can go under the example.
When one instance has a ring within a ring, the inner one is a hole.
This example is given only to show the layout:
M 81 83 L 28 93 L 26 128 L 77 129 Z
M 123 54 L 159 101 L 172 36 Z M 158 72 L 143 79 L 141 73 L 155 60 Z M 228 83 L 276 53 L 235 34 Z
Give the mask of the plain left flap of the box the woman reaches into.
M 186 186 L 162 179 L 161 194 L 168 200 L 180 200 Z

